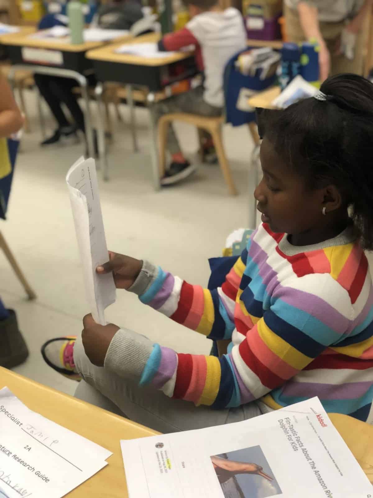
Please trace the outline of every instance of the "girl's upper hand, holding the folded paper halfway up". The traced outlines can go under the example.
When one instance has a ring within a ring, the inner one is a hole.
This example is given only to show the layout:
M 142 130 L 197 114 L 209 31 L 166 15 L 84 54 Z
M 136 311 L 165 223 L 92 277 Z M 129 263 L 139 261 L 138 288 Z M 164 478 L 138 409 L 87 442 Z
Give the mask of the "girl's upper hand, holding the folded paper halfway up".
M 142 268 L 142 260 L 109 251 L 107 263 L 97 266 L 99 275 L 112 271 L 117 289 L 129 289 L 135 282 Z

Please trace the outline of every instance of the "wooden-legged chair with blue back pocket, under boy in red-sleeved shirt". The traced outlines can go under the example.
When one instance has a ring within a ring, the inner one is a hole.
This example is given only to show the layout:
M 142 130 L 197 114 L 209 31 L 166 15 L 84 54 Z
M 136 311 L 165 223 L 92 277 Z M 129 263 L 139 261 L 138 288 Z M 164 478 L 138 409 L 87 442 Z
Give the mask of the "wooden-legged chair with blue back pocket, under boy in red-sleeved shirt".
M 223 173 L 225 183 L 228 186 L 229 193 L 231 195 L 237 195 L 237 189 L 234 184 L 229 162 L 224 150 L 222 127 L 225 123 L 230 123 L 233 126 L 239 126 L 241 124 L 248 124 L 250 134 L 254 141 L 254 152 L 251 158 L 251 163 L 255 160 L 258 152 L 258 147 L 260 144 L 260 138 L 258 135 L 258 130 L 255 122 L 255 110 L 249 109 L 248 111 L 242 111 L 237 109 L 237 103 L 239 99 L 242 99 L 241 90 L 247 90 L 251 92 L 251 95 L 255 92 L 260 92 L 265 90 L 267 87 L 272 85 L 275 80 L 275 75 L 266 78 L 264 80 L 260 79 L 260 70 L 255 75 L 255 77 L 245 76 L 241 74 L 236 66 L 237 57 L 242 53 L 247 51 L 247 49 L 241 50 L 235 54 L 227 63 L 224 71 L 224 98 L 225 98 L 225 112 L 223 116 L 217 118 L 205 118 L 203 116 L 198 116 L 196 114 L 189 113 L 173 113 L 166 116 L 162 116 L 158 123 L 158 138 L 159 138 L 159 168 L 160 176 L 165 174 L 166 168 L 166 148 L 167 148 L 167 132 L 170 124 L 174 121 L 181 121 L 183 123 L 192 124 L 196 126 L 197 129 L 203 129 L 210 133 L 215 149 L 216 155 L 218 157 L 219 165 Z M 201 150 L 201 145 L 200 145 Z

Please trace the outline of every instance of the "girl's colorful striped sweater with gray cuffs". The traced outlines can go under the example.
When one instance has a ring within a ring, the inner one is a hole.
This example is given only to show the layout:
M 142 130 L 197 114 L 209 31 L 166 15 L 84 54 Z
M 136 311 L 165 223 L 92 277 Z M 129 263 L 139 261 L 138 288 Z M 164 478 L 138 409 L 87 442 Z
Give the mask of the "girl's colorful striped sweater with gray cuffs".
M 264 224 L 217 289 L 144 262 L 130 290 L 176 322 L 232 342 L 221 358 L 177 354 L 121 329 L 105 367 L 197 405 L 261 399 L 277 409 L 318 396 L 328 412 L 373 423 L 372 279 L 351 229 L 295 247 Z

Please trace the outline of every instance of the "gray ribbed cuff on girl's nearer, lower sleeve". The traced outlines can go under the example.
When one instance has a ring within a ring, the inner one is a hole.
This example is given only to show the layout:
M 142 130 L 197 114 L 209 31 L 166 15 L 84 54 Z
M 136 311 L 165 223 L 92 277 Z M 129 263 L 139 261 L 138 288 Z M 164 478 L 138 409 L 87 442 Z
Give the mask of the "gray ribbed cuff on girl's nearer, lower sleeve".
M 110 342 L 103 365 L 121 377 L 139 380 L 152 351 L 150 339 L 119 329 Z

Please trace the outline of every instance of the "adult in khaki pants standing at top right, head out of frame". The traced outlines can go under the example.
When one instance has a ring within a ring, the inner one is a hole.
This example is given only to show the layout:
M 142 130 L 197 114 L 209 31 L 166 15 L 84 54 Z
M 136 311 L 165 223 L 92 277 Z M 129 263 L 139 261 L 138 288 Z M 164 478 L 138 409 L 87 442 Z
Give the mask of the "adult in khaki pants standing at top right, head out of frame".
M 363 74 L 373 0 L 284 0 L 289 41 L 315 38 L 320 80 L 338 73 Z

